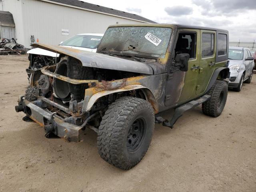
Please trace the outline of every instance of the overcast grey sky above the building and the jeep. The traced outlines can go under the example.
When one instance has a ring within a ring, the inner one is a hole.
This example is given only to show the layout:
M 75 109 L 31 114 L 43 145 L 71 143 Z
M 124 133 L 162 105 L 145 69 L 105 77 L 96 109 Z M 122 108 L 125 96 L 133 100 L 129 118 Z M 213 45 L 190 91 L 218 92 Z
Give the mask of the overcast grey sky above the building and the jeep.
M 83 0 L 158 23 L 226 29 L 230 41 L 256 41 L 256 0 Z

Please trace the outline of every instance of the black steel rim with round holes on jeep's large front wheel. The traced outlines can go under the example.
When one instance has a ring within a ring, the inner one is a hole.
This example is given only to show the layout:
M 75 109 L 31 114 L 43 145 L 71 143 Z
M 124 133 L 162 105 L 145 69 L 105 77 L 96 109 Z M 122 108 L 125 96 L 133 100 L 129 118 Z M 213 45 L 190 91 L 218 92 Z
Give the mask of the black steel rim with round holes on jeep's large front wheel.
M 127 149 L 136 152 L 143 143 L 146 134 L 146 122 L 144 118 L 137 118 L 132 123 L 127 135 Z

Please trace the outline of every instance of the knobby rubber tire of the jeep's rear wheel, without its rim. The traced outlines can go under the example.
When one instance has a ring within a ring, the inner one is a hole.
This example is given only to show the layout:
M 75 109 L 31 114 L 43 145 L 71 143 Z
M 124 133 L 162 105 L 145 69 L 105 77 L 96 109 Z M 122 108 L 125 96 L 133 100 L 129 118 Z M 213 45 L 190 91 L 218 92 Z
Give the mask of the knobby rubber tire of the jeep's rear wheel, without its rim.
M 202 103 L 202 112 L 208 116 L 212 117 L 218 117 L 221 112 L 219 113 L 217 111 L 218 108 L 218 99 L 220 96 L 220 92 L 224 89 L 226 92 L 228 92 L 228 85 L 226 82 L 221 80 L 216 80 L 212 88 L 208 91 L 208 95 L 211 96 L 209 100 Z M 226 103 L 226 101 L 225 101 Z M 225 104 L 224 104 L 225 105 Z

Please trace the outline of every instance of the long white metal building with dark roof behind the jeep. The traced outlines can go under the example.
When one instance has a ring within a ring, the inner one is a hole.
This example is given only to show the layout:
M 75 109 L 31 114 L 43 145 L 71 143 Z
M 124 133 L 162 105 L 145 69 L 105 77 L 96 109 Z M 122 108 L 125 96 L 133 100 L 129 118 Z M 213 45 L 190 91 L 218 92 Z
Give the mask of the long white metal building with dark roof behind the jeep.
M 59 44 L 79 33 L 104 33 L 109 25 L 154 23 L 78 0 L 0 0 L 0 9 L 13 15 L 17 42 L 27 48 L 33 36 L 34 42 Z

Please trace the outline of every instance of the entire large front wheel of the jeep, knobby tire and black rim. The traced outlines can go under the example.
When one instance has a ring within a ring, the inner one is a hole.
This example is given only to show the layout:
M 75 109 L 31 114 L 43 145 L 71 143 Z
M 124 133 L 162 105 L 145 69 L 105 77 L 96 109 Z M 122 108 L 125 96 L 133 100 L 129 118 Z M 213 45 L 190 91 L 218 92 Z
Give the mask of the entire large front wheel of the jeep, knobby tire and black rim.
M 108 107 L 98 130 L 98 152 L 108 163 L 128 170 L 146 154 L 154 130 L 154 110 L 140 98 L 122 97 Z

